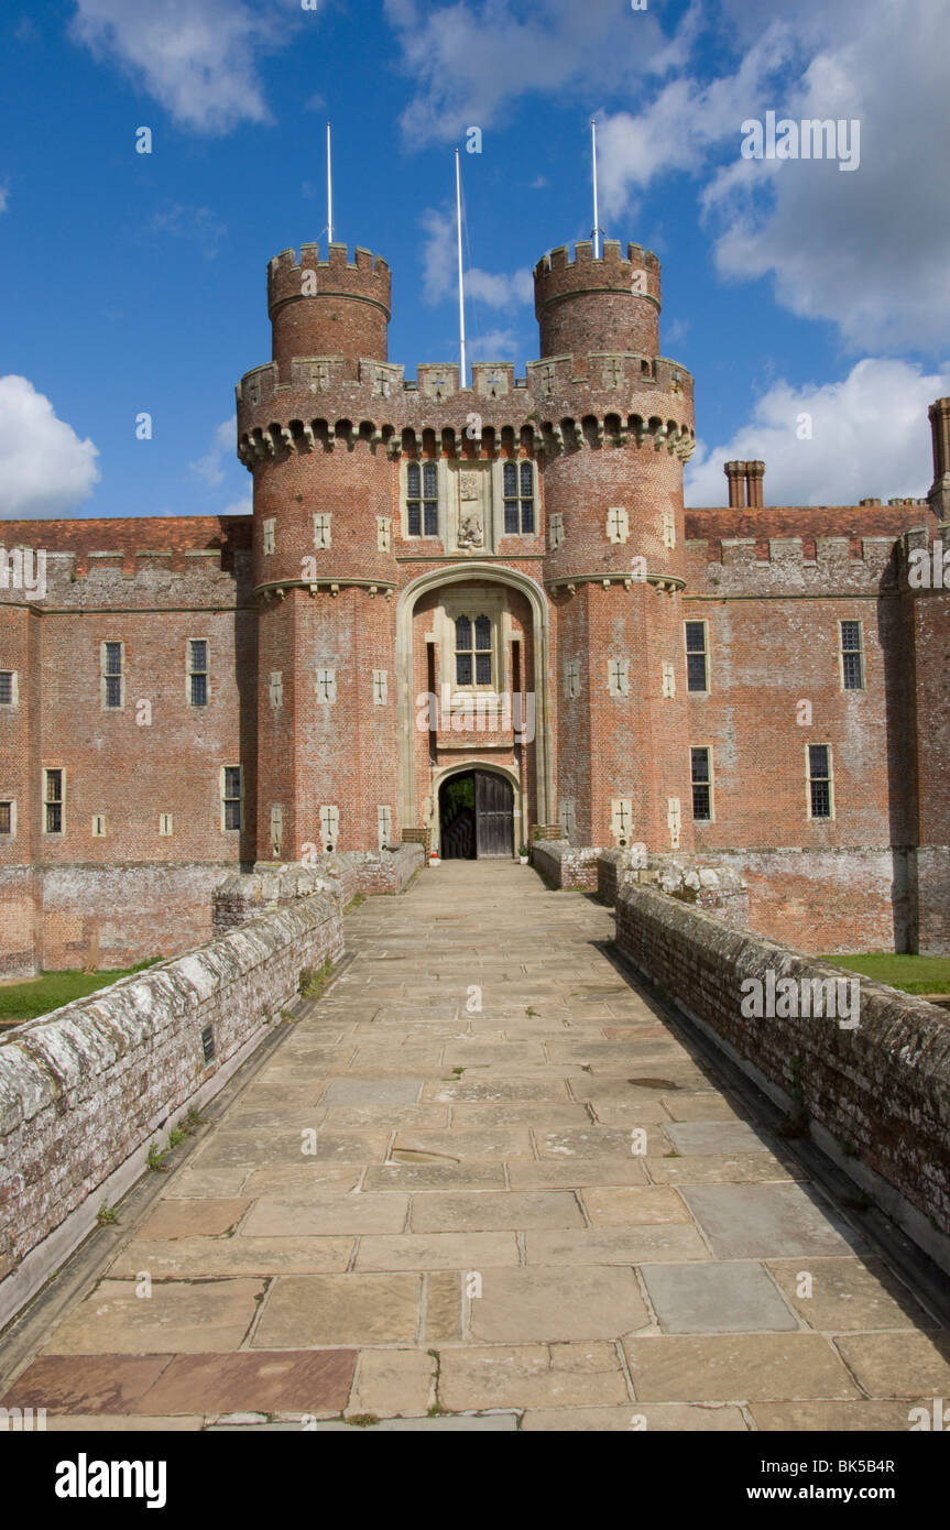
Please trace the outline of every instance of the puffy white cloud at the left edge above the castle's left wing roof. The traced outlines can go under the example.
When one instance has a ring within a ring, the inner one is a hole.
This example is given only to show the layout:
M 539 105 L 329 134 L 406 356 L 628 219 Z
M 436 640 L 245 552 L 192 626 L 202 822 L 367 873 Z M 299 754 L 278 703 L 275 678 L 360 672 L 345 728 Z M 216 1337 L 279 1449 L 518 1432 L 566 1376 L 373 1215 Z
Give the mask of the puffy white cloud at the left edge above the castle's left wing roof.
M 0 378 L 0 514 L 32 520 L 73 511 L 101 477 L 98 450 L 32 382 Z

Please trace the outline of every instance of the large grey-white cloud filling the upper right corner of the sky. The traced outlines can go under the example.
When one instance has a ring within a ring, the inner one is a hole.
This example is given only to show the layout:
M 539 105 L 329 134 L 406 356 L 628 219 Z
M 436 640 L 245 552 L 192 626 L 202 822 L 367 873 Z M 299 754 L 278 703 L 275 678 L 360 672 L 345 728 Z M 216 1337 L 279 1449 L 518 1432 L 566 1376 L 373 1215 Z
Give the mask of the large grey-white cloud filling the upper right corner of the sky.
M 831 320 L 854 349 L 933 353 L 950 341 L 950 203 L 935 159 L 950 136 L 945 23 L 921 0 L 869 3 L 858 29 L 812 58 L 788 107 L 769 103 L 797 119 L 857 118 L 858 170 L 751 161 L 707 191 L 719 271 L 771 274 L 780 303 Z

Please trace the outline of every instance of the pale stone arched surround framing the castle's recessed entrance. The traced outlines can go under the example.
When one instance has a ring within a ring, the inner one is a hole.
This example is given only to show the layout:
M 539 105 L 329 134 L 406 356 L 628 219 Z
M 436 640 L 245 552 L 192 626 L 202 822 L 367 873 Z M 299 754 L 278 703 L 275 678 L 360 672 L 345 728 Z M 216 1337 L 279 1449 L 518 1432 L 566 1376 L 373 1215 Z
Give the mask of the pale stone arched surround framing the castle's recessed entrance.
M 534 705 L 535 705 L 535 771 L 534 789 L 537 794 L 537 822 L 549 823 L 554 811 L 554 776 L 551 747 L 551 693 L 548 684 L 549 670 L 549 620 L 548 597 L 543 588 L 526 574 L 490 563 L 482 558 L 465 558 L 457 565 L 441 566 L 428 574 L 421 574 L 412 580 L 399 594 L 396 606 L 396 684 L 398 684 L 398 750 L 399 750 L 399 823 L 404 828 L 416 826 L 419 809 L 416 806 L 416 762 L 415 762 L 415 719 L 416 698 L 413 693 L 413 612 L 421 595 L 447 584 L 464 584 L 477 580 L 480 583 L 506 584 L 525 595 L 531 610 L 532 643 L 534 643 Z M 431 780 L 433 828 L 438 835 L 438 791 L 447 774 L 459 770 L 496 770 L 511 779 L 514 786 L 514 803 L 519 823 L 516 835 L 519 843 L 526 838 L 528 823 L 523 822 L 526 806 L 522 803 L 520 782 L 511 771 L 500 765 L 483 765 L 470 760 L 453 763 L 450 768 L 438 771 Z

